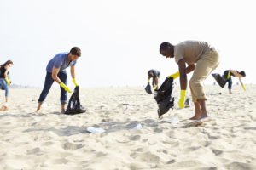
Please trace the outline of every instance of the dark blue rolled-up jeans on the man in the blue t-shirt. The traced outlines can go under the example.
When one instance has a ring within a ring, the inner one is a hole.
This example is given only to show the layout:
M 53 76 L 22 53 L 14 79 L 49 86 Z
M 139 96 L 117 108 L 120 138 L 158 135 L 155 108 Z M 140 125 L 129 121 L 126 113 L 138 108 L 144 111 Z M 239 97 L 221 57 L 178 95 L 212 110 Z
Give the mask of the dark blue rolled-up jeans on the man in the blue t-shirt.
M 67 85 L 67 74 L 64 71 L 58 73 L 58 77 L 61 79 L 61 82 Z M 47 72 L 44 82 L 44 88 L 40 97 L 38 99 L 38 103 L 42 103 L 44 99 L 47 97 L 49 93 L 49 89 L 51 88 L 52 84 L 55 80 L 51 77 L 51 72 Z M 61 87 L 60 87 L 61 88 Z M 67 104 L 67 92 L 64 88 L 61 88 L 61 104 Z

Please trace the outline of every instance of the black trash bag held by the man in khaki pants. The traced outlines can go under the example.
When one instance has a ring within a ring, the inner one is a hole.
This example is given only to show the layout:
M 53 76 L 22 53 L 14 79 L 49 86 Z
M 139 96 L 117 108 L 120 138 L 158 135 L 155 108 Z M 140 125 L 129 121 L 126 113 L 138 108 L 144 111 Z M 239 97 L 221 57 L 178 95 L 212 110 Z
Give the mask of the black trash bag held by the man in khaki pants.
M 173 78 L 166 78 L 162 83 L 154 99 L 158 105 L 158 116 L 166 114 L 174 106 L 174 98 L 172 98 Z

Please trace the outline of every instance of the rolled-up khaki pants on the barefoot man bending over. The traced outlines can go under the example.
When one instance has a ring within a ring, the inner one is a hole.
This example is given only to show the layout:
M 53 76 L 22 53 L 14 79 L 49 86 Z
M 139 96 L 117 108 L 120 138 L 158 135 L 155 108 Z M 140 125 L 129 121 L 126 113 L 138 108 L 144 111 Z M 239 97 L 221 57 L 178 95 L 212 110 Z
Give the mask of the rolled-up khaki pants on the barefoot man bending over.
M 218 63 L 219 57 L 215 50 L 210 50 L 202 55 L 201 59 L 196 62 L 195 71 L 189 81 L 193 102 L 196 102 L 198 99 L 207 99 L 202 82 L 218 67 Z

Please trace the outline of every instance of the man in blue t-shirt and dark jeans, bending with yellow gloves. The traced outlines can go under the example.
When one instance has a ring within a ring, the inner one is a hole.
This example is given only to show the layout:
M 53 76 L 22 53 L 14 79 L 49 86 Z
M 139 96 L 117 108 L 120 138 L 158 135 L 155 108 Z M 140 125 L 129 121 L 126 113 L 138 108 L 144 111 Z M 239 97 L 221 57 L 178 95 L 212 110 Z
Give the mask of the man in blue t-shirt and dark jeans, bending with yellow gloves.
M 67 72 L 66 68 L 70 66 L 71 77 L 73 83 L 78 86 L 75 79 L 75 65 L 77 59 L 81 56 L 81 50 L 78 47 L 73 47 L 69 53 L 56 54 L 53 59 L 49 60 L 46 67 L 46 77 L 44 82 L 44 88 L 38 99 L 38 109 L 41 109 L 41 105 L 44 102 L 49 89 L 53 82 L 58 82 L 61 87 L 61 113 L 65 112 L 65 105 L 67 104 L 67 92 L 71 93 L 71 90 L 67 87 Z

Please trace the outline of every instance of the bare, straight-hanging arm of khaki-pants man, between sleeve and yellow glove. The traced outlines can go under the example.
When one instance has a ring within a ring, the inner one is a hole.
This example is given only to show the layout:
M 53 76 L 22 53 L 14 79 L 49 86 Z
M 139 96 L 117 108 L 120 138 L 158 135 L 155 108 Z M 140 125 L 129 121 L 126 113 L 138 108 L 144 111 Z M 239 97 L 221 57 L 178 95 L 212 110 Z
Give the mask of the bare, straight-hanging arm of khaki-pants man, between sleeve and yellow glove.
M 178 71 L 179 71 L 179 81 L 180 81 L 180 88 L 182 90 L 187 89 L 187 74 L 186 74 L 186 63 L 184 59 L 180 59 L 178 61 Z

